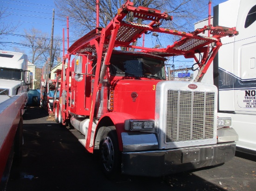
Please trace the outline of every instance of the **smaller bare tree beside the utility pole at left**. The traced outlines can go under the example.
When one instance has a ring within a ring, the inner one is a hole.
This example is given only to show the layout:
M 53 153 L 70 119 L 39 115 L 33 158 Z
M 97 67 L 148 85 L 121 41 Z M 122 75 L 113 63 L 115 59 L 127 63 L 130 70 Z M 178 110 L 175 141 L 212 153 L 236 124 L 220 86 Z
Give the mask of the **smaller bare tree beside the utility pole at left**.
M 50 56 L 50 38 L 48 33 L 38 29 L 24 29 L 25 40 L 21 43 L 30 48 L 28 60 L 36 66 L 41 66 Z M 54 39 L 52 63 L 57 60 L 60 54 L 60 38 Z

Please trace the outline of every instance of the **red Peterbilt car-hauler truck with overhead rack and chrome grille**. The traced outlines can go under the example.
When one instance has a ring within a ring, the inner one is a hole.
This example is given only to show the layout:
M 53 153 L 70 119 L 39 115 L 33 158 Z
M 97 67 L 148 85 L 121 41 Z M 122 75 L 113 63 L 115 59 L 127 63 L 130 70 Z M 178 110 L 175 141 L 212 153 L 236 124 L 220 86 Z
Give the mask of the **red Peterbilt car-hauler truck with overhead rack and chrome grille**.
M 127 14 L 149 22 L 128 22 Z M 55 120 L 70 121 L 85 136 L 80 142 L 101 156 L 108 176 L 162 176 L 221 164 L 235 155 L 238 137 L 231 121 L 217 118 L 217 88 L 200 81 L 222 45 L 220 38 L 238 32 L 211 25 L 180 32 L 161 28 L 162 19 L 172 17 L 127 1 L 106 28 L 96 27 L 63 53 Z M 199 35 L 207 30 L 213 37 Z M 180 40 L 166 48 L 133 44 L 150 32 Z M 196 82 L 166 80 L 165 61 L 177 55 L 199 64 Z

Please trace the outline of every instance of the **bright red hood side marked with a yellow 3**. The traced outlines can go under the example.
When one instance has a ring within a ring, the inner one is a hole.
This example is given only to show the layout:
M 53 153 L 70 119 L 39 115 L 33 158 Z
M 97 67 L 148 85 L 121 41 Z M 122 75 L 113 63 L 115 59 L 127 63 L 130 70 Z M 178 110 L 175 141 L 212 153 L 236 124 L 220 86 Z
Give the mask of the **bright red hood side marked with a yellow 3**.
M 119 80 L 114 87 L 114 111 L 137 119 L 155 119 L 155 91 L 161 80 Z

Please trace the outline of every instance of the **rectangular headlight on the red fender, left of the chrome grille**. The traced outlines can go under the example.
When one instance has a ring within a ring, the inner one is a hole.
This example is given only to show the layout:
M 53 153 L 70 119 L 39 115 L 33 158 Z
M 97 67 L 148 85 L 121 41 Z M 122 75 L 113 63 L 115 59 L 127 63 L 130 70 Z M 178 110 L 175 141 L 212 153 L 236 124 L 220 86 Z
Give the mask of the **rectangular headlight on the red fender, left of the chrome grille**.
M 154 120 L 125 120 L 124 129 L 127 131 L 146 131 L 154 129 Z

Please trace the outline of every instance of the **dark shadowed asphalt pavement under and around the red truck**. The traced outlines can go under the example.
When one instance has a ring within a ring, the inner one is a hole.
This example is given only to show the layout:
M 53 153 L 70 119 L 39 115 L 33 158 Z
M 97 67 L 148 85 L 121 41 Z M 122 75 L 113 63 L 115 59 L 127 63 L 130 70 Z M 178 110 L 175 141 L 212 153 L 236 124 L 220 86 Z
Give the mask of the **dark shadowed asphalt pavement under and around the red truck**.
M 236 153 L 221 166 L 151 178 L 109 180 L 78 141 L 80 132 L 56 124 L 40 107 L 23 115 L 23 159 L 6 191 L 255 191 L 256 157 Z

